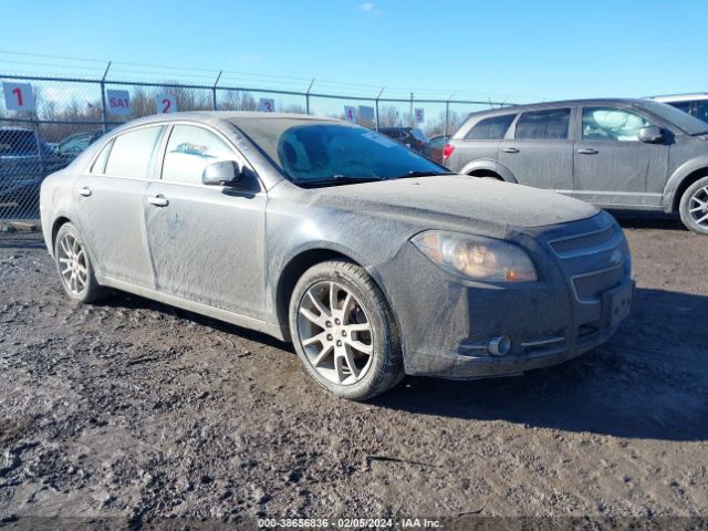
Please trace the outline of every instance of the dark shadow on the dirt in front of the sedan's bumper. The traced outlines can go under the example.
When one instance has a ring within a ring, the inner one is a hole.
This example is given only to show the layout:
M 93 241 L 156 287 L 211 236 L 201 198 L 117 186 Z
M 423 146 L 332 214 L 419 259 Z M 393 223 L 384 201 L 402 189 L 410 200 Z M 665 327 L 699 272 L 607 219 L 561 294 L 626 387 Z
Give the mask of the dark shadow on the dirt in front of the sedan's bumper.
M 408 378 L 374 404 L 416 414 L 664 440 L 708 439 L 708 296 L 638 289 L 601 348 L 510 378 Z

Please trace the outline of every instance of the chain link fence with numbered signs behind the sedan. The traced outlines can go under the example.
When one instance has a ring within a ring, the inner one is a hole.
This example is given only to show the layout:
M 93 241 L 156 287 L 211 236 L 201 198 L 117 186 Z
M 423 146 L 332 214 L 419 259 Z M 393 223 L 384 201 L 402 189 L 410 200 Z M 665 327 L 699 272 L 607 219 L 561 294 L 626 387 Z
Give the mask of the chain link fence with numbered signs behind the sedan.
M 110 66 L 110 65 L 108 65 Z M 177 111 L 303 113 L 374 129 L 418 128 L 451 135 L 466 116 L 506 102 L 355 96 L 212 84 L 0 73 L 0 221 L 39 218 L 42 179 L 69 165 L 92 142 L 131 119 Z M 230 83 L 229 83 L 230 84 Z

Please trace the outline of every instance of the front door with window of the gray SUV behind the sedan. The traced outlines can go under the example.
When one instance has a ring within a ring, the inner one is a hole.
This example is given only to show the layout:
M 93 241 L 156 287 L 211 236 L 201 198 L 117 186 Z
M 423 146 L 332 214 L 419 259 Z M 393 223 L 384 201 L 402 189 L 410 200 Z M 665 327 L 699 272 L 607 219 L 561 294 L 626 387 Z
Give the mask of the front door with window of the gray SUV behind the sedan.
M 603 207 L 658 207 L 668 145 L 639 142 L 653 125 L 634 110 L 585 106 L 574 153 L 574 197 Z

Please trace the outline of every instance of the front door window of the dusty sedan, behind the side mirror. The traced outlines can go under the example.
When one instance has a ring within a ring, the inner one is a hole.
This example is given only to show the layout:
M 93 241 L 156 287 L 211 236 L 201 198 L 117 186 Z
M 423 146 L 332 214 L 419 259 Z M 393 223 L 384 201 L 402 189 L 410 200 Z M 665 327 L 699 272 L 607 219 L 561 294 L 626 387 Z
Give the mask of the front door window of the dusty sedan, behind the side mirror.
M 200 185 L 209 164 L 233 159 L 233 149 L 215 133 L 194 125 L 176 125 L 167 143 L 163 180 Z

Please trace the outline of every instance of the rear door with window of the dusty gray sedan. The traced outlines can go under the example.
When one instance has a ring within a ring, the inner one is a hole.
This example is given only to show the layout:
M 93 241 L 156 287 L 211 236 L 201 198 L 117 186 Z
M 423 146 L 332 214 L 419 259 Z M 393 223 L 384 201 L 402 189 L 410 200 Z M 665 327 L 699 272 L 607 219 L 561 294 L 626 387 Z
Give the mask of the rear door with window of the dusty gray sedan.
M 144 200 L 162 126 L 116 136 L 74 186 L 81 233 L 96 270 L 111 279 L 153 288 Z

